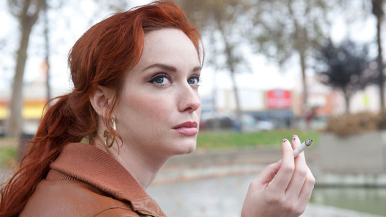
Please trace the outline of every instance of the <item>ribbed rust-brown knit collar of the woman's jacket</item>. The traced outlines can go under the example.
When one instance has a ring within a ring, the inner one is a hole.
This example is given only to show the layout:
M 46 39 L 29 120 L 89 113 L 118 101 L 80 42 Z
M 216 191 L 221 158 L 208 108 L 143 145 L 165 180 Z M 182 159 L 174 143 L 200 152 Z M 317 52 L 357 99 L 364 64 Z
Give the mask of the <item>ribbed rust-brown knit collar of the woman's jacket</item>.
M 130 202 L 136 212 L 166 217 L 134 177 L 118 161 L 95 146 L 70 143 L 50 167 L 93 185 L 118 200 Z

